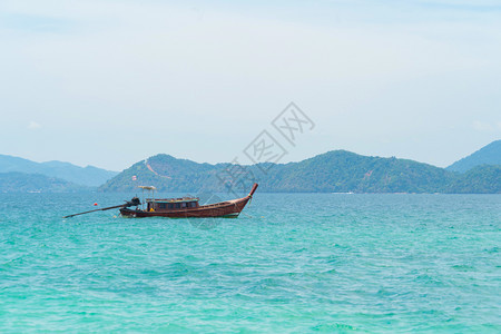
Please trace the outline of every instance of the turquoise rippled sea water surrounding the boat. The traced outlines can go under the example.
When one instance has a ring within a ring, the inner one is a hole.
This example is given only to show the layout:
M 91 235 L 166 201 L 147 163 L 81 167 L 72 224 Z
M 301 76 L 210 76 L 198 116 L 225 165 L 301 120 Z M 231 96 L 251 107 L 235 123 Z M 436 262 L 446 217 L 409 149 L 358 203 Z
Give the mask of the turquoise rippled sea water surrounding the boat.
M 259 194 L 238 219 L 0 194 L 0 332 L 501 332 L 500 195 Z

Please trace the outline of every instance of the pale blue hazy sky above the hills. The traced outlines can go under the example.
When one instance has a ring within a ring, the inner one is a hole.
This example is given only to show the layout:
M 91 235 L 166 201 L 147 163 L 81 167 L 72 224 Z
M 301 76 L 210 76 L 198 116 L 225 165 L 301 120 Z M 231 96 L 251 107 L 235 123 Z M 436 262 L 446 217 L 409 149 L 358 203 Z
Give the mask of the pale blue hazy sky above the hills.
M 229 161 L 289 101 L 284 161 L 501 137 L 501 1 L 2 0 L 0 46 L 0 154 L 37 161 Z

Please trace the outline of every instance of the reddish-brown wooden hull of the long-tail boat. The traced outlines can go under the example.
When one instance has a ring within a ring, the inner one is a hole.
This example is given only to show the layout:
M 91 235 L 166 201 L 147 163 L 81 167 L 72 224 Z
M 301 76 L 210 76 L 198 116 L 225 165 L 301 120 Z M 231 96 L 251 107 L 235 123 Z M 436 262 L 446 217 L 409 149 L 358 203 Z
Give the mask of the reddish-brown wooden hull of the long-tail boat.
M 254 191 L 252 191 L 254 193 Z M 203 205 L 195 208 L 146 212 L 141 209 L 121 208 L 120 214 L 124 217 L 145 218 L 145 217 L 168 217 L 168 218 L 210 218 L 210 217 L 238 217 L 244 207 L 250 200 L 252 194 L 247 197 Z

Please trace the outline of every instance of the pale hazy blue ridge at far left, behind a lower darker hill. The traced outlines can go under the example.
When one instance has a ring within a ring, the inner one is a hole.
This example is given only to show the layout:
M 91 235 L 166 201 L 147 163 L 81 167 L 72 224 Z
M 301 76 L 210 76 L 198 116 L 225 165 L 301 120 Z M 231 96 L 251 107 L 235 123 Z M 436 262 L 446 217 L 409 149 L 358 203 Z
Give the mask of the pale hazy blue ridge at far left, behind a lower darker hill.
M 41 174 L 89 187 L 100 186 L 118 174 L 92 166 L 79 167 L 61 161 L 36 163 L 19 157 L 0 155 L 0 173 L 10 171 Z

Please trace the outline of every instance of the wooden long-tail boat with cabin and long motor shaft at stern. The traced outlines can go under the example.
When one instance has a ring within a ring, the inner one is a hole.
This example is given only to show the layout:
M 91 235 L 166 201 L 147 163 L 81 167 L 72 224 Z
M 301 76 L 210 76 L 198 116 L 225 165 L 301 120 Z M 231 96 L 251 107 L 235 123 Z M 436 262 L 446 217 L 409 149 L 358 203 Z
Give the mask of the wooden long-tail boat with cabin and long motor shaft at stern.
M 143 190 L 149 190 L 155 195 L 155 187 L 141 186 Z M 143 203 L 139 198 L 134 197 L 124 205 L 110 206 L 107 208 L 95 209 L 80 214 L 65 216 L 69 218 L 82 214 L 88 214 L 98 210 L 108 210 L 112 208 L 120 208 L 122 217 L 144 218 L 144 217 L 169 217 L 169 218 L 209 218 L 209 217 L 232 217 L 236 218 L 242 213 L 247 203 L 253 198 L 257 189 L 257 184 L 254 184 L 250 193 L 242 198 L 230 199 L 214 204 L 199 205 L 198 197 L 183 197 L 183 198 L 146 198 Z M 146 207 L 145 207 L 146 205 Z M 136 208 L 130 208 L 136 206 Z

